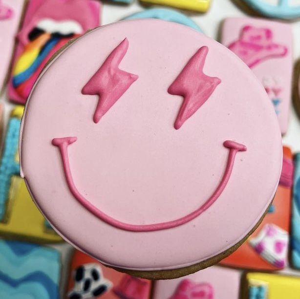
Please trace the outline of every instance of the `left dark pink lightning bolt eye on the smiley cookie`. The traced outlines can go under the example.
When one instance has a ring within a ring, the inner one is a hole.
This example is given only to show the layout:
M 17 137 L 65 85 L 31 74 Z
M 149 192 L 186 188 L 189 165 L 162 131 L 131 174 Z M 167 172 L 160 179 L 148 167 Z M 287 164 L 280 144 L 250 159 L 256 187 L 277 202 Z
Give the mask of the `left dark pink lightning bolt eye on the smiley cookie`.
M 128 39 L 120 43 L 107 57 L 97 72 L 82 89 L 82 94 L 99 95 L 93 120 L 98 123 L 102 116 L 122 97 L 137 75 L 119 69 L 119 64 L 127 53 Z

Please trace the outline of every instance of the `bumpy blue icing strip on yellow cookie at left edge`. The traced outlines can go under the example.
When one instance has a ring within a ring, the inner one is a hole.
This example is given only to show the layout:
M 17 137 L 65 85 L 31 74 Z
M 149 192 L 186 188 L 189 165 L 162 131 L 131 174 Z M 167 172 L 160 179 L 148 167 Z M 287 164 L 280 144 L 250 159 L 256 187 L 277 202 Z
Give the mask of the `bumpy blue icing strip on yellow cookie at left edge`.
M 5 214 L 5 203 L 8 197 L 10 180 L 13 175 L 20 174 L 20 164 L 15 157 L 19 143 L 19 129 L 21 120 L 17 117 L 10 118 L 8 122 L 5 144 L 0 161 L 0 221 Z

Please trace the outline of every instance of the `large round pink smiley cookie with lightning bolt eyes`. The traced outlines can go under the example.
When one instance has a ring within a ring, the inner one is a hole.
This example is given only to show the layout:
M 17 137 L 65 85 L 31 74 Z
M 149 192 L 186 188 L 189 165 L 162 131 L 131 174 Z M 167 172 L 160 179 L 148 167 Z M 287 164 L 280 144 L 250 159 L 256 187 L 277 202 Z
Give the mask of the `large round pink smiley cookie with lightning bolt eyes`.
M 22 175 L 53 227 L 148 278 L 230 254 L 281 170 L 279 125 L 255 75 L 160 20 L 112 23 L 68 46 L 37 81 L 20 136 Z

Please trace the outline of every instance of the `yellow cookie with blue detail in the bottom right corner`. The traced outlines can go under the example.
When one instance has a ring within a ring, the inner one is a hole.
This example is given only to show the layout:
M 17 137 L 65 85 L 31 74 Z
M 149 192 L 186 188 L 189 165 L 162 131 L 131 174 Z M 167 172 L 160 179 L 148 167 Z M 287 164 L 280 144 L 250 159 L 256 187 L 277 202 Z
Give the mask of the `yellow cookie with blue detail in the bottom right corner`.
M 268 273 L 247 273 L 243 298 L 249 299 L 298 299 L 300 277 Z

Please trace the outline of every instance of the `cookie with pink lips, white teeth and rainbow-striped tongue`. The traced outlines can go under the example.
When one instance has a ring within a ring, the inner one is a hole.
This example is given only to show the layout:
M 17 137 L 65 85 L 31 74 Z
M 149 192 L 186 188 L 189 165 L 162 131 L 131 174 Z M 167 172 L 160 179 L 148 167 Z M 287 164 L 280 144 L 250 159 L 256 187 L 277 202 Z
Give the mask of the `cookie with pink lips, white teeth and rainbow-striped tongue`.
M 31 0 L 27 6 L 8 87 L 8 97 L 24 104 L 49 58 L 65 43 L 99 25 L 95 0 Z

